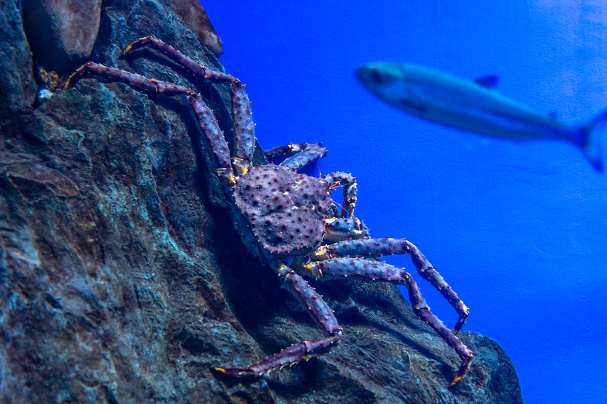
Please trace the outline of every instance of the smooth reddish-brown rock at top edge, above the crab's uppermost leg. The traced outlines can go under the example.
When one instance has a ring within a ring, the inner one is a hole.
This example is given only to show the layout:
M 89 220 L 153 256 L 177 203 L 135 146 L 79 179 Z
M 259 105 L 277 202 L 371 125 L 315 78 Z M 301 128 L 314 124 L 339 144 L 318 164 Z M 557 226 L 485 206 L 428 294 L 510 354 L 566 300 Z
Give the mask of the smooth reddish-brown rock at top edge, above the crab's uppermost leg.
M 211 24 L 209 16 L 198 0 L 164 0 L 168 7 L 171 7 L 177 15 L 183 19 L 183 25 L 192 30 L 198 37 L 198 41 L 205 47 L 213 51 L 215 55 L 222 54 L 222 40 L 217 35 L 215 28 Z

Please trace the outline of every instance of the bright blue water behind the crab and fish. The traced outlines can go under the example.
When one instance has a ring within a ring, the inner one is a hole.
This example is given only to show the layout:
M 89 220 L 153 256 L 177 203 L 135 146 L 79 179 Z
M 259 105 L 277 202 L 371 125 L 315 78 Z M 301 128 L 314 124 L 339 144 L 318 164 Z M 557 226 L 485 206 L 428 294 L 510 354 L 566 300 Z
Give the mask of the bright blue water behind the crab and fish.
M 512 358 L 527 404 L 607 402 L 607 174 L 569 144 L 515 144 L 407 116 L 353 76 L 371 61 L 497 74 L 508 96 L 582 122 L 607 107 L 607 3 L 294 4 L 203 1 L 226 70 L 247 84 L 260 145 L 322 141 L 322 173 L 356 176 L 356 215 L 373 236 L 424 251 L 470 307 L 464 329 Z M 390 262 L 413 269 L 407 257 Z

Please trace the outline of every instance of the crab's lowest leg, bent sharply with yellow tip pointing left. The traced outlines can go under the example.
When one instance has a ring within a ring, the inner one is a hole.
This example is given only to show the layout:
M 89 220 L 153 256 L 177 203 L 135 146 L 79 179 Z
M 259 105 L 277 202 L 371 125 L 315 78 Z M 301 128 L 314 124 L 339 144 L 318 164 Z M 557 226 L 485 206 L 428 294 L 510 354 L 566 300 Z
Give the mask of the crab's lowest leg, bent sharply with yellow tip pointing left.
M 282 286 L 308 308 L 312 318 L 325 329 L 327 336 L 294 343 L 247 368 L 214 368 L 216 371 L 234 376 L 259 376 L 283 366 L 293 365 L 302 359 L 308 360 L 329 353 L 341 340 L 342 328 L 320 294 L 316 293 L 304 278 L 287 265 L 280 264 L 278 276 L 282 281 Z

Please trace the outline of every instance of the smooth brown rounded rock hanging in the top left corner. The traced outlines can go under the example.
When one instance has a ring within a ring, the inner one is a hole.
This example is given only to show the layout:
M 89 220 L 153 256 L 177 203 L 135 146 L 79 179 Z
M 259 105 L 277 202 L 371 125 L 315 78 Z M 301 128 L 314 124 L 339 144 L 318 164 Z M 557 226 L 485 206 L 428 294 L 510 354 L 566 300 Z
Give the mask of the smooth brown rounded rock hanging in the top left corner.
M 22 2 L 23 24 L 38 66 L 61 74 L 89 59 L 100 10 L 101 0 Z

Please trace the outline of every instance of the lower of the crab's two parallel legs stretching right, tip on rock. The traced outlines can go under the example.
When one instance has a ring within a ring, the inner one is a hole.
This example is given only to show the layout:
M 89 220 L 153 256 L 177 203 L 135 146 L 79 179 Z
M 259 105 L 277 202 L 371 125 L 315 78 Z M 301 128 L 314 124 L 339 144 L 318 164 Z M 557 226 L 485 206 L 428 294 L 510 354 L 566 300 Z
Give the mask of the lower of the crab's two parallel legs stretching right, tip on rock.
M 367 241 L 367 240 L 359 240 Z M 373 241 L 370 239 L 369 241 Z M 354 253 L 354 256 L 361 256 L 360 253 Z M 360 258 L 333 258 L 324 261 L 310 262 L 304 265 L 304 271 L 318 277 L 319 280 L 344 279 L 347 277 L 353 279 L 379 280 L 384 282 L 397 282 L 407 286 L 409 290 L 409 299 L 413 306 L 416 316 L 430 325 L 436 333 L 447 342 L 461 357 L 462 363 L 459 366 L 451 386 L 459 382 L 464 377 L 467 369 L 472 362 L 472 351 L 464 345 L 458 337 L 447 328 L 443 322 L 430 312 L 430 308 L 422 296 L 419 287 L 411 275 L 404 268 L 396 268 L 385 262 L 367 260 Z

